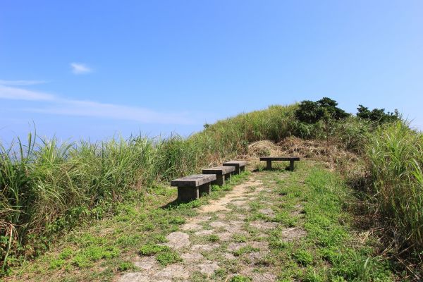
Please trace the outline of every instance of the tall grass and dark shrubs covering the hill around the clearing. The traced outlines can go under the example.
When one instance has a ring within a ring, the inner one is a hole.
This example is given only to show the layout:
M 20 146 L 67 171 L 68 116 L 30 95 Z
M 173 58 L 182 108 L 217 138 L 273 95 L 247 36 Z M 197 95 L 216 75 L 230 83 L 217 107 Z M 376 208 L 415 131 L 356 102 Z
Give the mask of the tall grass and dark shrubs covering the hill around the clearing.
M 131 216 L 128 201 L 134 197 L 145 209 L 157 207 L 159 203 L 150 196 L 159 194 L 156 200 L 164 202 L 173 197 L 164 189 L 172 178 L 247 156 L 252 142 L 271 140 L 283 146 L 297 137 L 302 146 L 295 151 L 291 144 L 286 151 L 331 163 L 355 189 L 353 194 L 364 214 L 383 226 L 384 232 L 374 230 L 389 246 L 384 255 L 403 264 L 405 276 L 418 276 L 423 250 L 421 133 L 398 116 L 392 118 L 378 109 L 360 107 L 357 116 L 344 115 L 329 100 L 269 106 L 204 125 L 202 132 L 188 138 L 138 136 L 94 144 L 58 144 L 29 135 L 25 143 L 18 140 L 12 148 L 1 147 L 1 271 L 6 275 L 22 271 L 21 264 L 27 265 L 51 247 L 57 250 L 58 238 L 73 234 L 86 223 Z M 318 144 L 319 150 L 307 151 L 313 144 Z M 269 154 L 269 149 L 259 154 Z M 169 223 L 166 228 L 177 225 Z M 102 259 L 121 253 L 97 251 Z M 61 259 L 70 257 L 65 254 Z M 58 262 L 59 269 L 64 265 Z

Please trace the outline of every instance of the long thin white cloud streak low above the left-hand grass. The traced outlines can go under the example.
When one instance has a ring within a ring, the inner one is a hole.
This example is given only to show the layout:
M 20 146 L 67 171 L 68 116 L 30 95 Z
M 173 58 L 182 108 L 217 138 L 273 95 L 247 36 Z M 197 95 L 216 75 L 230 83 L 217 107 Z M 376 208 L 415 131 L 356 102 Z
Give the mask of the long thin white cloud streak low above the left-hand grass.
M 79 99 L 66 99 L 43 92 L 0 85 L 0 99 L 45 102 L 43 106 L 23 109 L 43 114 L 92 116 L 140 123 L 193 124 L 185 113 L 159 112 L 137 106 L 106 104 Z

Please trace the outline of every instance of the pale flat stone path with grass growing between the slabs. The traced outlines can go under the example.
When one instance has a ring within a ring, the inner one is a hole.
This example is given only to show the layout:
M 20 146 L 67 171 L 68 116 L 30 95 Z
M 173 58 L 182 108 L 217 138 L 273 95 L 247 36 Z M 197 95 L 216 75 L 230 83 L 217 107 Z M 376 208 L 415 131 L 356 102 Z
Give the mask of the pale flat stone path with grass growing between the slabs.
M 266 263 L 271 252 L 266 238 L 280 226 L 272 221 L 272 207 L 281 199 L 260 180 L 264 174 L 253 173 L 225 197 L 200 207 L 180 231 L 167 235 L 164 245 L 178 252 L 182 262 L 160 266 L 154 256 L 137 257 L 138 271 L 123 274 L 118 281 L 231 281 L 235 275 L 257 282 L 276 281 L 277 270 Z M 305 235 L 295 229 L 281 231 L 287 241 Z

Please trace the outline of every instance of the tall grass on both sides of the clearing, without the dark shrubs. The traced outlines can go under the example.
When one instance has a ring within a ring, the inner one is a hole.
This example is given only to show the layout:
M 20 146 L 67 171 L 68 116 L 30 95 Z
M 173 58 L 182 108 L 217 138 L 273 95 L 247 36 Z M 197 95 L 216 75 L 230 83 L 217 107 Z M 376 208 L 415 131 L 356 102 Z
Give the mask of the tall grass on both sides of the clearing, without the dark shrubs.
M 412 257 L 418 261 L 423 226 L 422 135 L 406 127 L 396 130 L 395 126 L 380 128 L 375 135 L 372 126 L 357 118 L 333 124 L 330 131 L 322 130 L 321 124 L 298 123 L 293 115 L 295 109 L 296 105 L 270 106 L 240 114 L 209 125 L 188 139 L 133 137 L 69 146 L 58 145 L 54 140 L 29 142 L 32 147 L 23 146 L 17 156 L 1 148 L 0 257 L 8 255 L 3 266 L 13 268 L 23 259 L 37 257 L 57 235 L 75 235 L 77 231 L 72 228 L 81 222 L 109 221 L 110 213 L 119 215 L 121 209 L 132 210 L 122 208 L 127 206 L 122 202 L 127 203 L 128 199 L 138 197 L 138 205 L 149 207 L 148 193 L 162 191 L 160 183 L 246 154 L 249 142 L 278 142 L 290 135 L 324 138 L 326 133 L 341 149 L 369 157 L 376 195 L 380 196 L 372 202 L 383 207 L 376 210 L 383 211 L 386 222 L 400 234 L 397 250 L 411 246 Z M 368 133 L 374 137 L 370 142 Z M 364 145 L 368 145 L 367 151 Z M 393 166 L 386 166 L 389 163 Z M 115 250 L 105 252 L 106 257 L 116 255 Z M 419 271 L 423 267 L 416 268 Z

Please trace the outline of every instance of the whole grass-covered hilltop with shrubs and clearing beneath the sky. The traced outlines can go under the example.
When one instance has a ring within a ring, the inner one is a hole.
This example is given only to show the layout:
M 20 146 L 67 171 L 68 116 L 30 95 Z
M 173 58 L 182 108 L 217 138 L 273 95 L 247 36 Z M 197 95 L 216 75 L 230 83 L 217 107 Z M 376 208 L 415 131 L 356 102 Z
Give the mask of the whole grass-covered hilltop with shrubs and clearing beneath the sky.
M 231 206 L 224 219 L 209 214 L 202 224 L 206 231 L 216 222 L 224 229 L 244 221 L 228 240 L 216 235 L 219 230 L 201 238 L 195 237 L 200 229 L 183 232 L 190 245 L 219 245 L 202 254 L 214 271 L 195 272 L 192 280 L 257 280 L 255 271 L 240 273 L 244 264 L 266 269 L 274 281 L 417 278 L 423 245 L 421 145 L 422 135 L 398 113 L 360 105 L 351 115 L 329 98 L 240 114 L 206 124 L 188 138 L 65 145 L 30 136 L 17 154 L 1 152 L 2 269 L 7 280 L 104 281 L 140 270 L 136 262 L 143 255 L 154 255 L 154 267 L 183 267 L 185 253 L 158 247 L 168 243 L 166 237 L 194 223 L 198 207 L 239 185 L 258 183 L 247 185 L 251 197 Z M 261 171 L 255 160 L 270 154 L 305 160 L 295 173 Z M 261 172 L 215 187 L 202 200 L 169 204 L 176 193 L 169 180 L 232 158 L 249 159 L 250 170 Z M 246 210 L 247 217 L 234 219 Z M 269 231 L 257 233 L 267 223 Z M 384 252 L 391 238 L 376 223 L 400 236 Z M 281 238 L 289 228 L 298 234 Z M 222 257 L 231 243 L 245 243 L 229 252 L 243 264 Z M 255 262 L 249 257 L 255 252 L 266 256 Z

